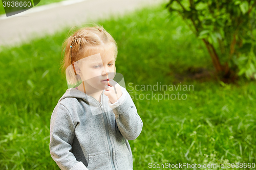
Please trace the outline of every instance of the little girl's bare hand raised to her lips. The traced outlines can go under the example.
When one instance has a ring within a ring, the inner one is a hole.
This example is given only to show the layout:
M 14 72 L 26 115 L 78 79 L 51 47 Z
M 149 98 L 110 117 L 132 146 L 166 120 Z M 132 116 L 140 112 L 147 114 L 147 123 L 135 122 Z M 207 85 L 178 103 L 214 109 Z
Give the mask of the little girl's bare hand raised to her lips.
M 104 94 L 108 96 L 110 102 L 113 104 L 122 95 L 121 86 L 117 82 L 115 82 L 113 79 L 109 79 L 109 81 L 107 81 L 105 84 Z

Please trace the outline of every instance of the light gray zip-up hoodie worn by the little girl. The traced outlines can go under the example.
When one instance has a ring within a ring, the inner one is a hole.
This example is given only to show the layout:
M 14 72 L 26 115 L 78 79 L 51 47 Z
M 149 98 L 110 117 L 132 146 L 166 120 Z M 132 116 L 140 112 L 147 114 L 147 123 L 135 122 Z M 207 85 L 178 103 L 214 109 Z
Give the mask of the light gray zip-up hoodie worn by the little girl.
M 143 124 L 130 94 L 121 90 L 114 104 L 105 90 L 100 103 L 75 88 L 63 94 L 51 116 L 49 145 L 61 169 L 133 169 L 127 140 L 136 139 Z

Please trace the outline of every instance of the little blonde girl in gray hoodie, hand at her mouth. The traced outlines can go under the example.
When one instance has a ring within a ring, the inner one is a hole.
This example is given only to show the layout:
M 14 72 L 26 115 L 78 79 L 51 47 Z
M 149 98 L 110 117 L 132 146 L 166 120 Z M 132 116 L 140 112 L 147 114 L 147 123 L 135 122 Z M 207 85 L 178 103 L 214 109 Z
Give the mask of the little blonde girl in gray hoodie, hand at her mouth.
M 130 94 L 113 80 L 114 38 L 96 25 L 79 29 L 63 47 L 62 68 L 71 88 L 51 116 L 53 160 L 61 169 L 133 169 L 128 140 L 139 136 L 143 124 Z

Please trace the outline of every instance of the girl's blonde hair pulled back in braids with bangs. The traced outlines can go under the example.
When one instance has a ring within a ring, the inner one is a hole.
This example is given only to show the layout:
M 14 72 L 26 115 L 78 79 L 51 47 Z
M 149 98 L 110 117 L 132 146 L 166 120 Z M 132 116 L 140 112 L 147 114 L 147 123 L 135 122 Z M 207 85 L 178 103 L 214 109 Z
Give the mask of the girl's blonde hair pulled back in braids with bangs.
M 116 61 L 118 53 L 114 38 L 102 26 L 96 24 L 94 24 L 94 27 L 80 28 L 73 35 L 66 38 L 62 44 L 62 53 L 64 51 L 61 70 L 66 73 L 68 84 L 76 84 L 81 81 L 80 76 L 75 72 L 74 62 L 98 53 L 101 57 L 114 56 Z

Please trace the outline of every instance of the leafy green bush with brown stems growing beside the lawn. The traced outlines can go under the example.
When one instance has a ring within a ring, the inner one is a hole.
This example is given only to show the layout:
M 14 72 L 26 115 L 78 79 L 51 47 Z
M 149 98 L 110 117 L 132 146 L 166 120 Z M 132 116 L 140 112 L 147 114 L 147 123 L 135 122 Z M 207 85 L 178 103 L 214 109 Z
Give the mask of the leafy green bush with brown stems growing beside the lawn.
M 256 2 L 251 0 L 170 0 L 207 47 L 217 74 L 236 79 L 256 78 Z

